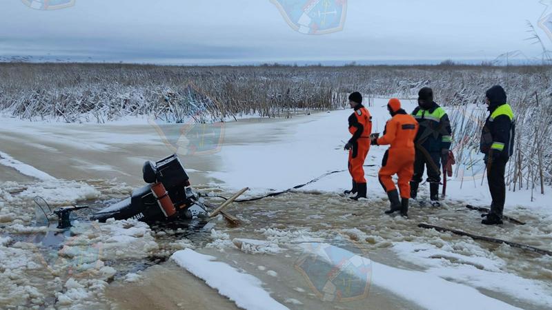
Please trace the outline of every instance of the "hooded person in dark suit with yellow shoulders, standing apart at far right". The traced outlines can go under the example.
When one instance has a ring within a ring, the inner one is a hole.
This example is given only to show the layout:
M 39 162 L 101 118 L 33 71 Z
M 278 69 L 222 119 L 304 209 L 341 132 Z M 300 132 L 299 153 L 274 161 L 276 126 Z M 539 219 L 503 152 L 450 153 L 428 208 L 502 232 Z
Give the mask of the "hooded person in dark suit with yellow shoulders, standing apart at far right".
M 486 104 L 489 117 L 485 121 L 481 135 L 481 152 L 485 154 L 489 192 L 493 202 L 491 212 L 484 214 L 485 225 L 502 224 L 502 211 L 506 202 L 506 184 L 504 172 L 506 163 L 513 155 L 515 138 L 515 118 L 507 102 L 506 92 L 500 85 L 491 87 L 486 92 Z

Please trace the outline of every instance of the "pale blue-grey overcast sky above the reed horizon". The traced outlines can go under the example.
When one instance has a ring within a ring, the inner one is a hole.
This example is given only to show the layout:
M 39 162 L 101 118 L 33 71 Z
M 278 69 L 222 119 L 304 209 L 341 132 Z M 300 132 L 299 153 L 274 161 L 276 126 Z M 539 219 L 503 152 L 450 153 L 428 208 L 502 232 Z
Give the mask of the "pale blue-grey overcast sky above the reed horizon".
M 538 27 L 552 10 L 540 0 L 320 1 L 347 3 L 342 31 L 299 33 L 270 0 L 76 0 L 48 11 L 2 0 L 0 56 L 184 64 L 538 57 L 526 21 L 552 48 Z

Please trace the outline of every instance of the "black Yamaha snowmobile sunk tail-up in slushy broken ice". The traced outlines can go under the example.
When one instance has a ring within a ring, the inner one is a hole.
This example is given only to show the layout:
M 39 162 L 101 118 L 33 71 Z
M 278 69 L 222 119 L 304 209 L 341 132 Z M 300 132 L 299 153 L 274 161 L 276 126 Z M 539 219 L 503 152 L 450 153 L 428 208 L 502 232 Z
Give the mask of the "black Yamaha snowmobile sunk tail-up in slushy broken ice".
M 176 154 L 157 163 L 146 161 L 142 173 L 148 185 L 135 189 L 132 196 L 98 211 L 90 219 L 106 222 L 108 218 L 133 218 L 155 222 L 191 218 L 204 211 Z

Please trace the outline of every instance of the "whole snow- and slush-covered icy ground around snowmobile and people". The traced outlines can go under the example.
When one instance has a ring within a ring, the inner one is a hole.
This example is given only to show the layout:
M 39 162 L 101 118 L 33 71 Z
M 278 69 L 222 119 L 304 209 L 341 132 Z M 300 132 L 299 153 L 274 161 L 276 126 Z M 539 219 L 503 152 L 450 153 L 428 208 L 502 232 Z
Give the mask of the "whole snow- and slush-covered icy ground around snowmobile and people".
M 403 104 L 408 111 L 415 107 L 413 101 Z M 383 132 L 389 118 L 385 105 L 386 99 L 376 99 L 368 107 L 374 132 Z M 186 139 L 178 149 L 200 192 L 228 195 L 250 187 L 247 195 L 253 197 L 346 170 L 349 114 L 227 123 L 216 153 L 191 156 Z M 533 199 L 530 190 L 507 192 L 504 213 L 526 225 L 483 227 L 479 213 L 465 205 L 489 205 L 486 180 L 460 167 L 449 179 L 444 207 L 415 206 L 408 220 L 394 218 L 383 214 L 388 205 L 377 181 L 386 148 L 372 147 L 367 200 L 341 195 L 351 178 L 340 172 L 290 194 L 230 207 L 242 220 L 239 227 L 217 218 L 190 235 L 133 221 L 80 220 L 48 247 L 55 233 L 32 226 L 34 196 L 55 206 L 115 201 L 141 183 L 143 161 L 171 151 L 147 120 L 2 121 L 8 126 L 0 128 L 1 308 L 147 309 L 128 294 L 141 300 L 138 292 L 147 283 L 146 291 L 159 293 L 149 298 L 164 296 L 162 283 L 151 279 L 166 271 L 136 267 L 149 260 L 181 277 L 175 281 L 181 279 L 181 287 L 172 287 L 178 296 L 164 304 L 172 309 L 187 309 L 194 293 L 208 296 L 201 289 L 187 291 L 193 285 L 186 281 L 216 292 L 213 303 L 202 304 L 212 309 L 219 307 L 217 298 L 243 309 L 552 307 L 551 256 L 417 227 L 440 225 L 550 251 L 550 188 Z M 193 280 L 186 278 L 190 274 Z M 117 293 L 122 290 L 127 296 Z

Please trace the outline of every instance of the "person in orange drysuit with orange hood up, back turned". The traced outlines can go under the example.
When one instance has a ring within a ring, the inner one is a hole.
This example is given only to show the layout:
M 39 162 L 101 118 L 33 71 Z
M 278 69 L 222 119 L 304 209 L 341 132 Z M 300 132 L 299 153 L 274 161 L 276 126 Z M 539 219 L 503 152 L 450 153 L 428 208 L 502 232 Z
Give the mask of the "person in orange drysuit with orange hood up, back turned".
M 410 198 L 410 181 L 414 174 L 415 148 L 414 138 L 418 132 L 418 123 L 410 114 L 401 108 L 399 99 L 393 98 L 387 104 L 387 110 L 392 118 L 385 125 L 384 136 L 373 138 L 373 145 L 391 145 L 385 152 L 380 169 L 380 183 L 387 192 L 391 209 L 386 214 L 401 211 L 408 216 L 408 199 Z M 391 176 L 397 174 L 402 201 Z

